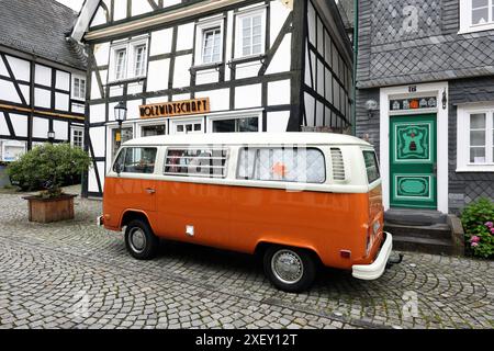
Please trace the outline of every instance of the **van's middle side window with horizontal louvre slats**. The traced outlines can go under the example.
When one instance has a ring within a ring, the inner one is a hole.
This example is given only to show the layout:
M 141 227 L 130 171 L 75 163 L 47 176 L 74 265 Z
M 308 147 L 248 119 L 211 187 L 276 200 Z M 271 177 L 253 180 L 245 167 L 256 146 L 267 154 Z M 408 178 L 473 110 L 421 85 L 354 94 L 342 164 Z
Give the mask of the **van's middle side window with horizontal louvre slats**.
M 165 174 L 225 178 L 226 158 L 226 149 L 168 148 Z

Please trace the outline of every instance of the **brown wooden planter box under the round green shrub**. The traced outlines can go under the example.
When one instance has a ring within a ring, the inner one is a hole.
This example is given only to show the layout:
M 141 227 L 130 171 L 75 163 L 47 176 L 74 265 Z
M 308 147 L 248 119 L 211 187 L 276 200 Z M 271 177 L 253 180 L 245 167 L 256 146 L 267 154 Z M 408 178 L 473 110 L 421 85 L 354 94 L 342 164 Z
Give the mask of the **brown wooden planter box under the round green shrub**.
M 25 196 L 30 206 L 30 222 L 50 223 L 74 219 L 74 197 L 77 195 L 64 194 L 56 199 L 42 199 L 40 196 Z

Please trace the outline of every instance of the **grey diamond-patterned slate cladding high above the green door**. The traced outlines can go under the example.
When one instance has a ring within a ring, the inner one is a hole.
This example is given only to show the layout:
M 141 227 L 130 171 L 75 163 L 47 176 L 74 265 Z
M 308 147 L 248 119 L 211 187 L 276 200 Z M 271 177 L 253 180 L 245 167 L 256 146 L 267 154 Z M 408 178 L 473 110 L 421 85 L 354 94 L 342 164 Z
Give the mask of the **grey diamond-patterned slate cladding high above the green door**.
M 361 0 L 358 88 L 493 76 L 494 31 L 458 34 L 458 3 Z

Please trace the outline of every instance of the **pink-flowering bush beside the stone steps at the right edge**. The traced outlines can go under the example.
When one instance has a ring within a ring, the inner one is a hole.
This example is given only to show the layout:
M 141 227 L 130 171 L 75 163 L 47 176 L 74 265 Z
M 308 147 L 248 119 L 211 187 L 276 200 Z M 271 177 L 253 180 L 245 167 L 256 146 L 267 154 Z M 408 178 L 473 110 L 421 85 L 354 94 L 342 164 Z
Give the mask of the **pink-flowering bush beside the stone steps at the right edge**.
M 494 257 L 494 202 L 480 199 L 461 213 L 465 251 L 483 258 Z

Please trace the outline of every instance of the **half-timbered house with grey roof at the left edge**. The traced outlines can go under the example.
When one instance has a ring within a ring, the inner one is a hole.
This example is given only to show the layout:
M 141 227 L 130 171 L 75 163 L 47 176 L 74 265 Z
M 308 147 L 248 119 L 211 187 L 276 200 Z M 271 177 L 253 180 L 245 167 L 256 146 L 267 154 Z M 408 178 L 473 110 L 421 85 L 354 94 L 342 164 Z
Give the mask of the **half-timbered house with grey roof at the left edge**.
M 0 0 L 0 161 L 45 141 L 82 147 L 86 57 L 77 13 L 55 0 Z

